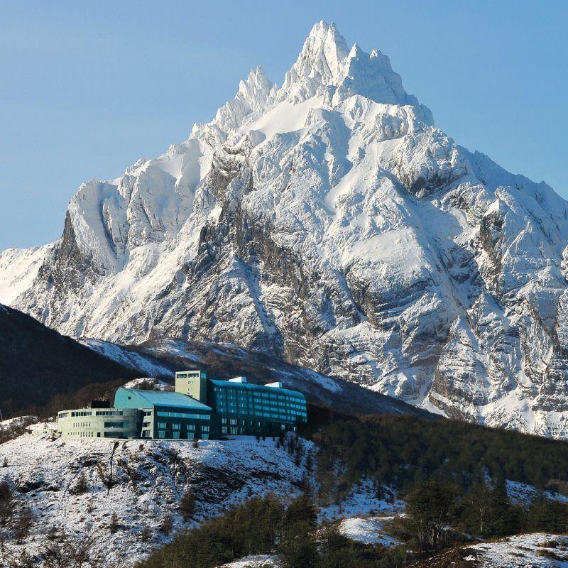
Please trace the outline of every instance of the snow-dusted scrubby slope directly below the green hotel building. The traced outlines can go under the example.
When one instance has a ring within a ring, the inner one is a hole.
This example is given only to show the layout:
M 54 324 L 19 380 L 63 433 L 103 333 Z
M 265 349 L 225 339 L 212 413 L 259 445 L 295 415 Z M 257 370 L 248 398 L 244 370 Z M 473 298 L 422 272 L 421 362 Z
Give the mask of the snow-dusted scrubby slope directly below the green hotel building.
M 38 555 L 54 528 L 77 542 L 96 535 L 93 550 L 104 543 L 107 553 L 120 554 L 131 565 L 168 540 L 163 530 L 168 515 L 173 535 L 251 496 L 295 495 L 307 474 L 306 456 L 313 452 L 304 442 L 297 466 L 296 455 L 278 449 L 273 439 L 200 441 L 197 447 L 143 440 L 116 442 L 116 449 L 114 444 L 26 434 L 0 445 L 0 464 L 4 457 L 8 462 L 0 467 L 0 482 L 16 488 L 14 516 L 28 507 L 32 515 L 30 533 L 21 542 L 11 534 L 16 529 L 2 529 L 9 537 L 0 544 L 2 559 L 24 549 Z M 179 504 L 188 488 L 196 501 L 195 514 L 186 521 Z

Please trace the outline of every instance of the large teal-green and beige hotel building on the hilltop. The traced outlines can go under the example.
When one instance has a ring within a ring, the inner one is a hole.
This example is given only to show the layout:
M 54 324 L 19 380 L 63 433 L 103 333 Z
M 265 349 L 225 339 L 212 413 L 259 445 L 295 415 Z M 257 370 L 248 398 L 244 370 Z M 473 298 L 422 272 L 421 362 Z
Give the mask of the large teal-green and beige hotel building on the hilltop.
M 278 435 L 307 422 L 305 396 L 282 383 L 244 377 L 208 379 L 204 371 L 175 373 L 175 391 L 119 388 L 114 407 L 58 413 L 58 433 L 73 437 L 214 439 Z

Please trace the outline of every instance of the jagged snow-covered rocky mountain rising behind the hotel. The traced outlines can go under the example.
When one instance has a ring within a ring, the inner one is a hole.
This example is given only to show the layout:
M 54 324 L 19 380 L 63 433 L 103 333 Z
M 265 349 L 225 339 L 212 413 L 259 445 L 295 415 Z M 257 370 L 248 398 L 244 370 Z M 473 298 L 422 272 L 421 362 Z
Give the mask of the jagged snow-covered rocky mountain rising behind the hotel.
M 568 204 L 434 125 L 317 23 L 190 138 L 0 256 L 0 302 L 75 337 L 231 342 L 452 417 L 568 436 Z

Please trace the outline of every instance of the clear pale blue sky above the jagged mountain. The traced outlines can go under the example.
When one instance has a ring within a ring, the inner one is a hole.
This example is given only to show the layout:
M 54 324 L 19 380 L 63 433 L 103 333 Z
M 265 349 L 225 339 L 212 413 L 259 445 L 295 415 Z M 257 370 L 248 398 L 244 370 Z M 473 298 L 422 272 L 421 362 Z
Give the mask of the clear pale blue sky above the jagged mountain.
M 568 1 L 0 0 L 0 250 L 58 239 L 67 202 L 208 121 L 313 23 L 380 48 L 458 143 L 568 198 Z

